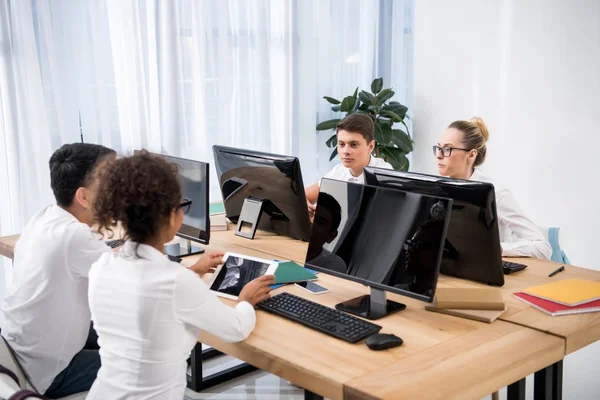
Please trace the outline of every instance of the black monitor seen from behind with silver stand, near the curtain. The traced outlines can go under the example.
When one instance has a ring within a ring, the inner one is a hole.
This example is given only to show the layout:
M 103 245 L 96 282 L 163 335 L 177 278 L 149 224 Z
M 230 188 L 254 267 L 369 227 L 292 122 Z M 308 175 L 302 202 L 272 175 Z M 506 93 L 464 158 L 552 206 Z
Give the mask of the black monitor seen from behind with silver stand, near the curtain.
M 240 233 L 247 222 L 250 238 L 258 228 L 309 239 L 311 224 L 298 158 L 225 146 L 213 146 L 213 152 L 225 214 L 233 223 L 242 220 Z M 249 214 L 255 219 L 246 218 Z

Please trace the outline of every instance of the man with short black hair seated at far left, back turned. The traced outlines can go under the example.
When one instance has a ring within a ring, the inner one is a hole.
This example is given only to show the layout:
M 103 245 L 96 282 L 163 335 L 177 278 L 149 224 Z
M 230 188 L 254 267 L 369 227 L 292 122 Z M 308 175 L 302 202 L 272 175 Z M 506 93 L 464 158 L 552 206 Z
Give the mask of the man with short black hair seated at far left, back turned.
M 49 162 L 56 204 L 31 218 L 15 247 L 2 336 L 35 389 L 50 398 L 89 390 L 100 368 L 97 344 L 86 344 L 92 332 L 87 278 L 111 249 L 90 228 L 93 171 L 114 154 L 84 143 L 56 150 Z

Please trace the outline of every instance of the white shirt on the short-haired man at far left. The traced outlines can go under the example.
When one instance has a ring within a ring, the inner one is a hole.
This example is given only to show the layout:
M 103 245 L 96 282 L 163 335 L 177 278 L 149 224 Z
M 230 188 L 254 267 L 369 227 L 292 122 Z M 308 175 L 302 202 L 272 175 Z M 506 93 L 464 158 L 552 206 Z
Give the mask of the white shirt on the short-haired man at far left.
M 31 218 L 15 247 L 2 302 L 2 336 L 44 393 L 84 346 L 90 329 L 88 272 L 111 249 L 57 205 Z

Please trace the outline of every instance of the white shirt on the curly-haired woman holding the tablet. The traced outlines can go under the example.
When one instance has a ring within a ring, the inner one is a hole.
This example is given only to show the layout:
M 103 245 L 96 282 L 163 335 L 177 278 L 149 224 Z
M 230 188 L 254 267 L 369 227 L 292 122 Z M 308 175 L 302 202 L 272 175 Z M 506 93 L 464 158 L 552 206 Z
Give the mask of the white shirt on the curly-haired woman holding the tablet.
M 182 399 L 200 329 L 228 342 L 254 329 L 254 308 L 226 306 L 194 272 L 151 246 L 126 242 L 90 271 L 102 366 L 87 399 Z

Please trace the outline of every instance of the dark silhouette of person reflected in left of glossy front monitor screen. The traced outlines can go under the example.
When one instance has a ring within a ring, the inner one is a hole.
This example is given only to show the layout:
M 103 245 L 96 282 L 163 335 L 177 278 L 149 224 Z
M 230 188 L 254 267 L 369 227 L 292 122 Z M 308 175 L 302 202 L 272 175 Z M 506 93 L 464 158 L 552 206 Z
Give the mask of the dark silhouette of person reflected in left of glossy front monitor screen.
M 319 193 L 319 207 L 313 222 L 310 244 L 306 253 L 306 263 L 335 272 L 346 273 L 344 260 L 337 254 L 325 249 L 325 246 L 338 236 L 342 222 L 342 207 L 328 193 Z

